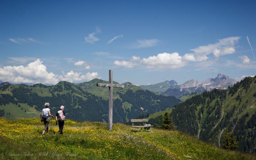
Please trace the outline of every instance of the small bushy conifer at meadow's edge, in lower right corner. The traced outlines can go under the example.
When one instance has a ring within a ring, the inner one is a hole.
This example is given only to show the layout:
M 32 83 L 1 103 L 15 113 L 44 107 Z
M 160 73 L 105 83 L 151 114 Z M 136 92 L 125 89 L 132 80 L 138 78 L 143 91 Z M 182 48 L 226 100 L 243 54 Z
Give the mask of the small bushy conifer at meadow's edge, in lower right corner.
M 225 131 L 224 140 L 222 141 L 222 147 L 225 149 L 237 149 L 238 143 L 236 140 L 236 136 L 234 136 L 234 132 Z

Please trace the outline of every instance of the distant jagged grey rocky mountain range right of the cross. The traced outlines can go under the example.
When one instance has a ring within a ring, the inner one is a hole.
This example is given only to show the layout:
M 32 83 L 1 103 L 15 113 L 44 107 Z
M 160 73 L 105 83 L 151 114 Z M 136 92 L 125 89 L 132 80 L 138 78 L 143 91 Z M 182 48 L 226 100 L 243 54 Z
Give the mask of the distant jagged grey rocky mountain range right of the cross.
M 178 85 L 176 81 L 165 81 L 153 85 L 142 85 L 141 88 L 153 91 L 158 94 L 167 94 L 170 96 L 181 97 L 185 94 L 194 92 L 203 92 L 214 88 L 227 88 L 233 86 L 236 81 L 229 76 L 219 73 L 215 78 L 208 78 L 203 82 L 190 79 L 185 83 Z

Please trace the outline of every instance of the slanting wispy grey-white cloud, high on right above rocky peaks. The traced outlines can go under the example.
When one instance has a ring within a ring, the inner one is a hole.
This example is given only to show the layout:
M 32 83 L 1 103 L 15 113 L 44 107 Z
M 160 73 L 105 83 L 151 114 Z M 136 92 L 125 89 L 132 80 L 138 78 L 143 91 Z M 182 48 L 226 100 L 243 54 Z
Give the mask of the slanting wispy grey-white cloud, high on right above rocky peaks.
M 214 54 L 215 57 L 221 55 L 233 54 L 236 52 L 234 44 L 238 42 L 240 37 L 228 37 L 218 40 L 219 42 L 215 44 L 208 44 L 206 46 L 199 46 L 194 49 L 190 49 L 195 52 L 195 54 L 209 55 Z

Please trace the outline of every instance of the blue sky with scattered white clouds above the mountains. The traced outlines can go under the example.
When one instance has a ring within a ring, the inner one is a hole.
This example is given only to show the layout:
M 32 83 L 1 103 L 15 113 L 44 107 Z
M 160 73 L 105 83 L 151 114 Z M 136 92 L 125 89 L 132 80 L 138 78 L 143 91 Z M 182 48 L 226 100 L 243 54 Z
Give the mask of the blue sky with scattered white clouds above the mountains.
M 255 6 L 256 1 L 1 1 L 0 80 L 108 80 L 109 69 L 114 81 L 137 85 L 203 81 L 218 73 L 238 80 L 256 74 Z

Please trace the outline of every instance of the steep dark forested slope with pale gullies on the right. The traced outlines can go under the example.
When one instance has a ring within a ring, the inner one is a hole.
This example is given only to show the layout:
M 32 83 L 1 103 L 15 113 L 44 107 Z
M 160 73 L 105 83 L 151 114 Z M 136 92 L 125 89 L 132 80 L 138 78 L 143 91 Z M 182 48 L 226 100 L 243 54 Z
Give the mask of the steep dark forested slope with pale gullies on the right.
M 171 112 L 177 129 L 222 147 L 225 130 L 234 132 L 238 150 L 256 153 L 256 76 L 229 90 L 205 91 L 176 105 Z M 160 117 L 152 118 L 151 124 Z

